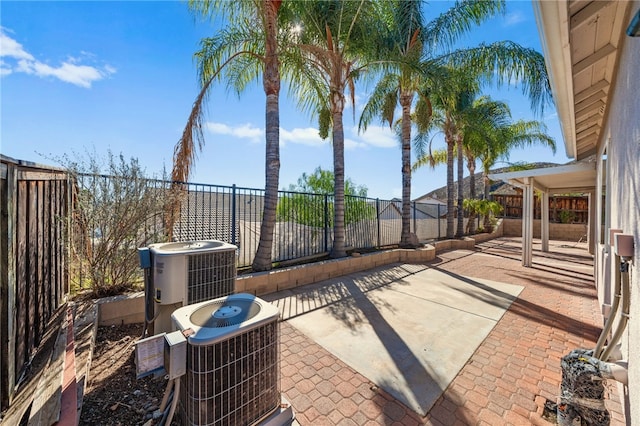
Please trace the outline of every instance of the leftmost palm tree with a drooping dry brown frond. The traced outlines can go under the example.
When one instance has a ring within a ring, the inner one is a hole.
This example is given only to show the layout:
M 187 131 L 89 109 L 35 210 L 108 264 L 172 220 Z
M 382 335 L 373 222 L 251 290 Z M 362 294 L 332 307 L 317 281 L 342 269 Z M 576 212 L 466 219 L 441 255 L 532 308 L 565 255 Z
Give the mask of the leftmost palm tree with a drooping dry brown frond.
M 265 107 L 265 199 L 260 241 L 253 269 L 271 269 L 273 230 L 278 203 L 280 171 L 280 64 L 278 18 L 282 17 L 282 0 L 251 0 L 229 2 L 225 0 L 190 0 L 189 8 L 197 15 L 227 16 L 230 25 L 211 38 L 201 42 L 195 54 L 200 74 L 201 91 L 198 94 L 182 137 L 173 156 L 172 180 L 186 182 L 195 161 L 196 148 L 204 147 L 203 106 L 213 83 L 224 73 L 227 84 L 242 92 L 249 82 L 263 77 L 266 95 Z

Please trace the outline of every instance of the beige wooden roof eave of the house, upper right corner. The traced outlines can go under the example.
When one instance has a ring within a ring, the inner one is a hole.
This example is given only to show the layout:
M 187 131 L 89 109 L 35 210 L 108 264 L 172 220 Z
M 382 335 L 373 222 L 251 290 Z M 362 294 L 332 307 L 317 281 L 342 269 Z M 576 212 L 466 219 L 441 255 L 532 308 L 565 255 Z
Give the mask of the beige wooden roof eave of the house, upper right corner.
M 632 2 L 534 1 L 551 91 L 569 158 L 597 152 Z

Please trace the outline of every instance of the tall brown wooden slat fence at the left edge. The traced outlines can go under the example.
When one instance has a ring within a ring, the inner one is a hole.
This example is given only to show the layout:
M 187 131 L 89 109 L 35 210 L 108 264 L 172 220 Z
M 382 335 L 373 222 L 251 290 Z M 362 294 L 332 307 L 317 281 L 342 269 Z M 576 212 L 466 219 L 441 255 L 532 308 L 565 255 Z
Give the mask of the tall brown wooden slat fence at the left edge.
M 0 408 L 5 409 L 68 292 L 70 181 L 0 155 Z

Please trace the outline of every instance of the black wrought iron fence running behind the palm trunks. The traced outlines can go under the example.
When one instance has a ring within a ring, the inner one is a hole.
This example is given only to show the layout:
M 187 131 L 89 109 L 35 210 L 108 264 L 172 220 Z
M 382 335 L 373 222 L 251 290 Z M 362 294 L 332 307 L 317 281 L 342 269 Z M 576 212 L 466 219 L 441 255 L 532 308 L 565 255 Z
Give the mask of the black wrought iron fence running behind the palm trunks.
M 108 176 L 81 175 L 78 186 L 90 188 Z M 260 240 L 264 190 L 235 185 L 148 180 L 155 202 L 132 244 L 220 240 L 238 247 L 238 267 L 249 267 Z M 173 207 L 172 207 L 173 206 Z M 272 261 L 285 262 L 327 254 L 333 245 L 333 195 L 279 191 Z M 411 203 L 411 232 L 421 242 L 446 234 L 446 205 Z M 468 219 L 465 218 L 465 221 Z M 95 245 L 103 230 L 87 224 L 79 244 Z M 347 250 L 397 245 L 402 229 L 402 202 L 345 196 Z

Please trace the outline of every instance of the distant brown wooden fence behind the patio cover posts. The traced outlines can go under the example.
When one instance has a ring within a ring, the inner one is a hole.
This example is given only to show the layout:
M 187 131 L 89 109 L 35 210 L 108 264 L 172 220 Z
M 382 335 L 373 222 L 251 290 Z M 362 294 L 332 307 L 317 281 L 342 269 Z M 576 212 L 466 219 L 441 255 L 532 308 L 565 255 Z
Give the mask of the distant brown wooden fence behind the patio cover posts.
M 502 217 L 522 218 L 522 195 L 493 195 L 503 208 Z M 540 197 L 534 196 L 534 219 L 540 219 Z M 549 197 L 549 221 L 555 223 L 587 223 L 589 197 L 557 195 Z

